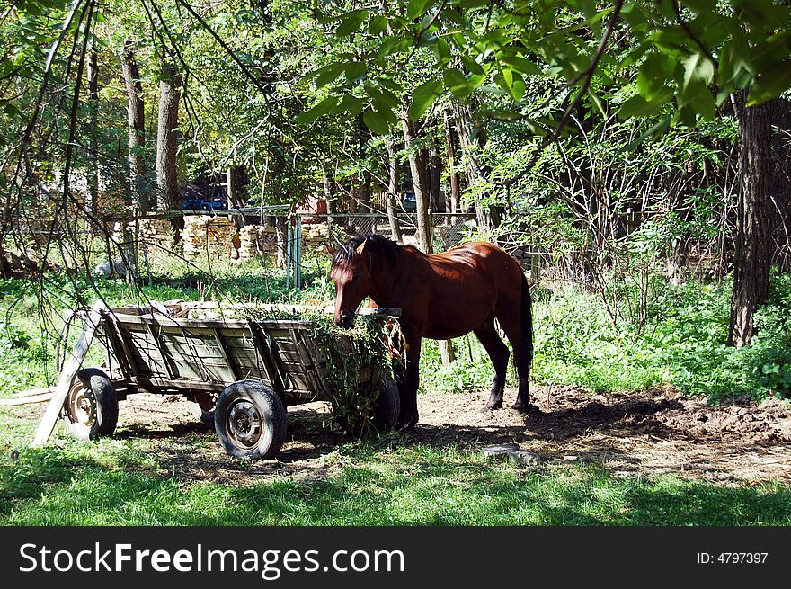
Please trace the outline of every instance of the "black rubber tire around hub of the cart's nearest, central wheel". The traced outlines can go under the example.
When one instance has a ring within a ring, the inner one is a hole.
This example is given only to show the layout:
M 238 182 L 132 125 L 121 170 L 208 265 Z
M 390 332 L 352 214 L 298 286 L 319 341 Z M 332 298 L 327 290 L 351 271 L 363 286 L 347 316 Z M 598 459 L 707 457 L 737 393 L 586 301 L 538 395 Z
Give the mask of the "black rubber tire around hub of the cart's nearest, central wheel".
M 252 403 L 262 416 L 261 438 L 249 448 L 234 442 L 228 428 L 228 412 L 239 399 Z M 227 454 L 234 458 L 274 458 L 286 441 L 286 420 L 286 407 L 280 397 L 259 380 L 239 380 L 230 385 L 219 396 L 214 409 L 214 430 Z

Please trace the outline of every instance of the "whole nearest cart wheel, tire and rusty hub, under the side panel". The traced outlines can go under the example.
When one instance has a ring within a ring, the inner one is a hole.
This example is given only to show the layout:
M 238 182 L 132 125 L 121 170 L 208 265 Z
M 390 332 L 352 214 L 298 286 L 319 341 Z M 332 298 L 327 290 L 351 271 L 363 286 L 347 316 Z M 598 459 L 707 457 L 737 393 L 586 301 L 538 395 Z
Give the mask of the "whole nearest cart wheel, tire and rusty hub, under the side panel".
M 240 380 L 219 396 L 214 429 L 234 458 L 274 458 L 286 439 L 286 408 L 262 382 Z

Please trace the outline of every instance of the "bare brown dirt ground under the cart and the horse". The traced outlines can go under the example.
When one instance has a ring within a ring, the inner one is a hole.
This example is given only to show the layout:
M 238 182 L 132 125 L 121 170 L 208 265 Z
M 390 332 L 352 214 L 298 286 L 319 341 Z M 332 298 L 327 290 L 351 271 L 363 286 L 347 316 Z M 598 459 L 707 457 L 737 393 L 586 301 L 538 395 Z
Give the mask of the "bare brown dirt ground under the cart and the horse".
M 420 396 L 420 424 L 396 443 L 471 452 L 515 443 L 538 463 L 593 462 L 622 477 L 673 473 L 712 482 L 791 484 L 791 412 L 778 400 L 714 407 L 662 388 L 596 395 L 573 387 L 535 387 L 533 402 L 540 411 L 525 416 L 510 408 L 482 412 L 487 395 Z M 507 391 L 506 406 L 514 399 L 515 391 Z M 341 460 L 334 453 L 338 445 L 348 440 L 326 404 L 293 406 L 278 460 L 234 461 L 209 428 L 196 423 L 183 397 L 147 394 L 121 404 L 116 437 L 162 440 L 152 451 L 176 476 L 226 482 L 323 477 Z

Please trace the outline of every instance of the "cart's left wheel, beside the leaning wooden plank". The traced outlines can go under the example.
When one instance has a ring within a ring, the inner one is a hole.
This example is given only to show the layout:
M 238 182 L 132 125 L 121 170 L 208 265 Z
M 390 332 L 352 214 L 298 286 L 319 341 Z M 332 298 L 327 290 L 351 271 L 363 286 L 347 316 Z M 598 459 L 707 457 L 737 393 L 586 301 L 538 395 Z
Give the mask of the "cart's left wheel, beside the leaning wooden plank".
M 77 440 L 112 435 L 118 424 L 118 397 L 98 368 L 78 370 L 64 405 L 66 429 Z

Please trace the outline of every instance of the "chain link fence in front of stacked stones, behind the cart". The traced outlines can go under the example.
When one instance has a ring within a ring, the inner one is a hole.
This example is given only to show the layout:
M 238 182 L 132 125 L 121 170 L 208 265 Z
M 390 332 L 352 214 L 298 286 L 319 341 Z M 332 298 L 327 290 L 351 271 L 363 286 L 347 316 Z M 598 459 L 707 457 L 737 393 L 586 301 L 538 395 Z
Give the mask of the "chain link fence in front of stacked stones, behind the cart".
M 429 218 L 435 253 L 478 235 L 475 213 L 430 213 Z M 75 222 L 74 227 L 54 222 L 46 227 L 29 225 L 16 228 L 26 244 L 23 254 L 43 258 L 49 244 L 68 243 L 71 245 L 63 248 L 54 265 L 88 266 L 91 272 L 105 275 L 123 275 L 130 268 L 149 281 L 152 272 L 173 264 L 215 268 L 218 261 L 259 260 L 283 268 L 289 288 L 300 288 L 304 275 L 325 271 L 325 245 L 338 245 L 357 235 L 380 235 L 404 245 L 419 245 L 413 213 L 401 212 L 391 220 L 385 213 L 302 213 L 290 212 L 288 206 L 205 213 L 174 210 L 126 221 L 108 218 L 101 226 L 85 222 Z M 179 226 L 182 228 L 177 230 Z M 519 258 L 521 251 L 510 253 Z M 68 261 L 64 259 L 67 254 Z M 531 263 L 528 255 L 524 258 L 520 262 L 525 269 L 536 272 L 535 261 Z

